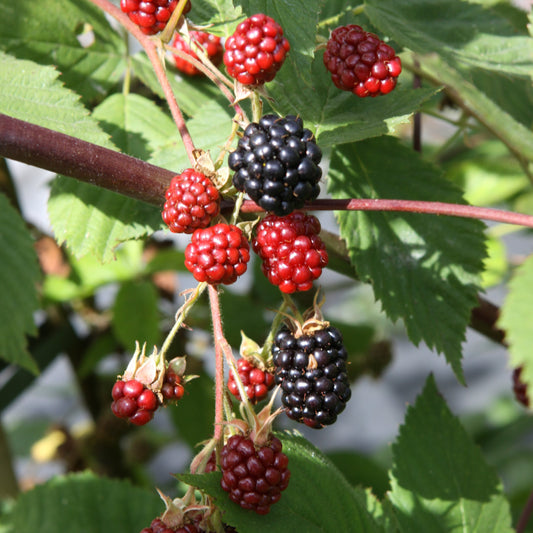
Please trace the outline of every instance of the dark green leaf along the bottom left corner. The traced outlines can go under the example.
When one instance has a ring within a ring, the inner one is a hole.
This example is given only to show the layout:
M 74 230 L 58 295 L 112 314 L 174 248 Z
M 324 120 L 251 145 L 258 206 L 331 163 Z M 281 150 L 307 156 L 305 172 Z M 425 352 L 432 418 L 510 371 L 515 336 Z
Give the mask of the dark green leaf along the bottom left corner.
M 13 531 L 140 531 L 164 510 L 155 491 L 89 472 L 56 477 L 23 493 L 10 515 Z

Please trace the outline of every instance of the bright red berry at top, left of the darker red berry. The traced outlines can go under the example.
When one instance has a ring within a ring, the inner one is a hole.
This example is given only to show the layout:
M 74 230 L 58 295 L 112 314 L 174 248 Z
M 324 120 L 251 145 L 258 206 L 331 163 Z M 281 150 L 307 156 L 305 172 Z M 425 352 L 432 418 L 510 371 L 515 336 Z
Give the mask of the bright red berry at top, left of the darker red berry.
M 228 74 L 251 86 L 271 81 L 290 50 L 283 28 L 262 13 L 241 22 L 225 46 L 224 64 Z

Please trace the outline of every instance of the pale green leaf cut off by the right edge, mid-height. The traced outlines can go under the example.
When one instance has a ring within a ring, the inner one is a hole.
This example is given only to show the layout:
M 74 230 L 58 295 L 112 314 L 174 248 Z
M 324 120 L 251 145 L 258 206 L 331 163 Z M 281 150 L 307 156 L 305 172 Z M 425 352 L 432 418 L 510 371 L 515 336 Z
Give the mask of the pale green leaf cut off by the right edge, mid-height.
M 533 356 L 531 352 L 531 302 L 533 302 L 533 255 L 515 271 L 509 283 L 498 327 L 505 330 L 513 367 L 523 366 L 520 379 L 533 390 Z

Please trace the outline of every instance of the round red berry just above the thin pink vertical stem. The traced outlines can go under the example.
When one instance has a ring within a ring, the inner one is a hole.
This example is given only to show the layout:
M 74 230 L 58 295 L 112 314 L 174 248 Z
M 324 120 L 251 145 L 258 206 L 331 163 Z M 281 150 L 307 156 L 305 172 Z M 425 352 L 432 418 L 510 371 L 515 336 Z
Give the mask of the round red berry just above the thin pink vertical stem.
M 246 272 L 250 245 L 232 224 L 198 229 L 185 249 L 185 267 L 199 282 L 230 285 Z

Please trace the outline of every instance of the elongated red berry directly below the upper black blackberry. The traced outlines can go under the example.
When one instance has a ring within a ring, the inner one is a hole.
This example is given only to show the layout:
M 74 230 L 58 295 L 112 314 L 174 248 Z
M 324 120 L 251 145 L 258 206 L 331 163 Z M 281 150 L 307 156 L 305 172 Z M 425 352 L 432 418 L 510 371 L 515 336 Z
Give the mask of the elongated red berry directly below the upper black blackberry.
M 319 220 L 299 211 L 269 215 L 258 224 L 252 246 L 270 283 L 287 294 L 312 288 L 328 264 L 319 232 Z

